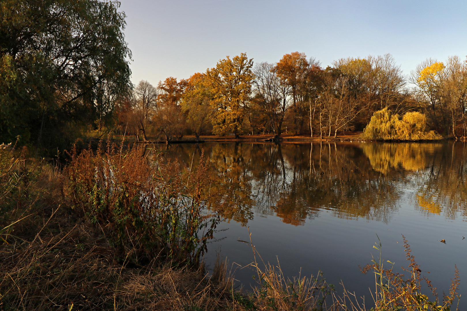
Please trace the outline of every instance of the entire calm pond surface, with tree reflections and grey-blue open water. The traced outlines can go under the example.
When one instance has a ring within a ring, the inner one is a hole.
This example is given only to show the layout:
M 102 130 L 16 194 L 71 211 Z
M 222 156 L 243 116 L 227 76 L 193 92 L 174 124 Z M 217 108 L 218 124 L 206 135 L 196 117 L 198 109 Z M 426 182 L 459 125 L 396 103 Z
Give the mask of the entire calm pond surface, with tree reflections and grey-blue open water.
M 316 276 L 344 283 L 371 301 L 374 276 L 359 265 L 379 256 L 407 266 L 402 235 L 423 274 L 441 296 L 448 291 L 454 265 L 467 307 L 467 146 L 442 143 L 202 144 L 219 181 L 226 221 L 209 245 L 239 267 L 235 278 L 246 289 L 254 283 L 250 268 L 253 243 L 265 262 L 279 261 L 285 275 Z M 200 149 L 173 145 L 166 153 L 196 167 Z M 446 244 L 439 242 L 445 239 Z M 240 266 L 239 266 L 240 265 Z M 428 274 L 426 271 L 429 271 Z M 341 287 L 336 286 L 338 292 Z

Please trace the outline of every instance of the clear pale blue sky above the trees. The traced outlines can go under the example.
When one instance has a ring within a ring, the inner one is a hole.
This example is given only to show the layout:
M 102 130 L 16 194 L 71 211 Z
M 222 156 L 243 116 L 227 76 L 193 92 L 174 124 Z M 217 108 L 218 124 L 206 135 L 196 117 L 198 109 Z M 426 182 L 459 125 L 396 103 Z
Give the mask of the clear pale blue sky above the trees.
M 323 67 L 390 53 L 405 75 L 428 57 L 467 55 L 467 1 L 121 0 L 132 82 L 188 78 L 246 52 L 277 62 L 290 52 Z

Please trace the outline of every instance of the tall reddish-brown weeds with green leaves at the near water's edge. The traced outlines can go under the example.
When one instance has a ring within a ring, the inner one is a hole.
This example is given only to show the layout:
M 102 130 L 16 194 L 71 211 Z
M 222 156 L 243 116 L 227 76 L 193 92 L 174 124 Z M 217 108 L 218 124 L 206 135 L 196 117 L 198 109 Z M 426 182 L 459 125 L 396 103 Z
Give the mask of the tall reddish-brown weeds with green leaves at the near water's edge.
M 123 154 L 122 147 L 72 152 L 66 169 L 72 207 L 102 228 L 123 261 L 197 264 L 219 221 L 202 199 L 209 182 L 204 160 L 182 180 L 177 162 L 151 164 L 142 147 Z

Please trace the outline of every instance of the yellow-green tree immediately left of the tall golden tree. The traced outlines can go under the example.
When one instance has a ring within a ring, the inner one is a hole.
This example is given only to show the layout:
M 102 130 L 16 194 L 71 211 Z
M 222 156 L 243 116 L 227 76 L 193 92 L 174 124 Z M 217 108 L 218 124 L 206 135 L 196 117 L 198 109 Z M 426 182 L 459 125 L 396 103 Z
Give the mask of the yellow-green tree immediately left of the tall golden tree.
M 212 93 L 206 84 L 205 75 L 195 73 L 188 79 L 181 101 L 182 111 L 197 141 L 212 115 Z

